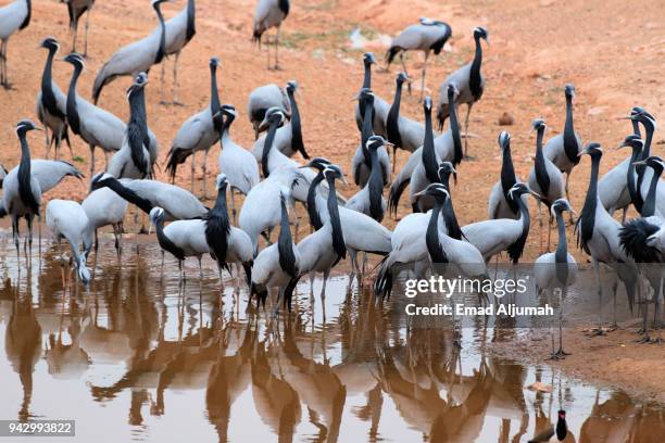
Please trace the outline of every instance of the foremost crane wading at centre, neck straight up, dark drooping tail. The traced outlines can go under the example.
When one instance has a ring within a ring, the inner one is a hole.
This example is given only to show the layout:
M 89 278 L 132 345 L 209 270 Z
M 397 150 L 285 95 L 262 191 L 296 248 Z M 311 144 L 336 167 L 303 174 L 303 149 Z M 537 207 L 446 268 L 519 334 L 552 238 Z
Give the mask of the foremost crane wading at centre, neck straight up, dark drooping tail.
M 275 314 L 279 311 L 279 302 L 283 300 L 287 284 L 300 273 L 301 255 L 293 244 L 289 226 L 289 195 L 288 188 L 279 189 L 280 219 L 277 243 L 263 249 L 252 265 L 251 294 L 256 294 L 258 304 L 265 305 L 269 288 L 278 289 Z

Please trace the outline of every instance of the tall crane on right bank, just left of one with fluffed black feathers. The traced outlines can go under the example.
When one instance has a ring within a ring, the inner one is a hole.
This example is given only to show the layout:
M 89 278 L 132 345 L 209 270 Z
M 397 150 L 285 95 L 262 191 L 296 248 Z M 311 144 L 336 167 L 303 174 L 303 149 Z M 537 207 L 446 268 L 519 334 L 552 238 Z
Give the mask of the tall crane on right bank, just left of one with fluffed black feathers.
M 633 300 L 637 276 L 631 271 L 627 273 L 627 275 L 622 275 L 622 270 L 630 265 L 630 260 L 619 245 L 622 225 L 607 214 L 598 197 L 598 175 L 603 150 L 599 143 L 593 142 L 587 144 L 579 153 L 579 155 L 585 154 L 591 157 L 591 178 L 585 205 L 577 219 L 575 230 L 577 232 L 578 245 L 591 256 L 591 263 L 593 264 L 599 303 L 598 329 L 593 333 L 602 336 L 604 334 L 602 328 L 603 288 L 600 279 L 600 264 L 604 263 L 617 273 L 617 276 L 626 287 L 629 303 Z M 613 292 L 616 300 L 616 282 L 613 284 Z

